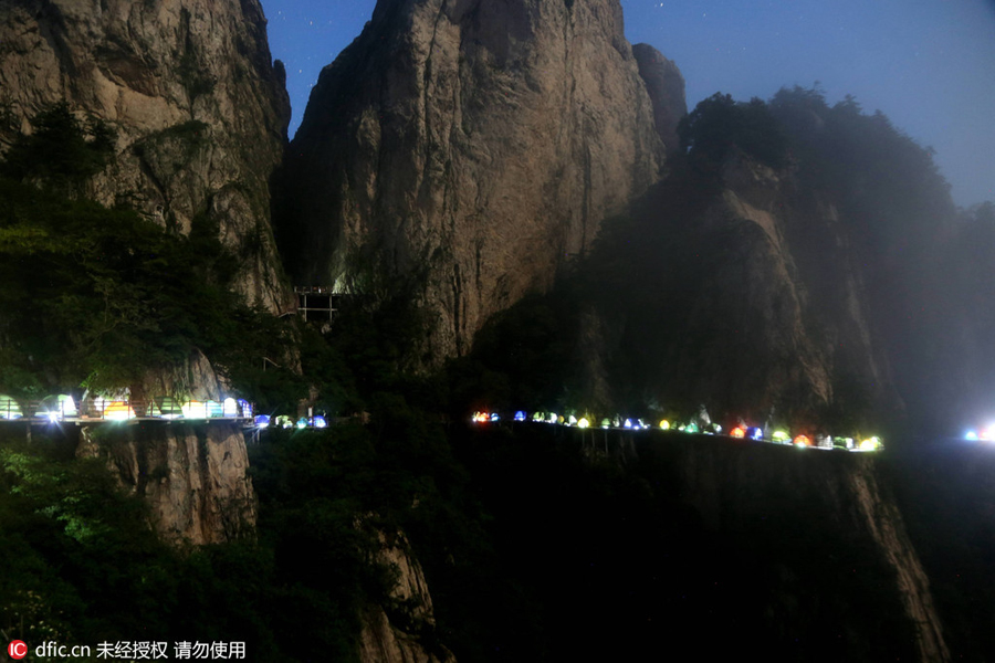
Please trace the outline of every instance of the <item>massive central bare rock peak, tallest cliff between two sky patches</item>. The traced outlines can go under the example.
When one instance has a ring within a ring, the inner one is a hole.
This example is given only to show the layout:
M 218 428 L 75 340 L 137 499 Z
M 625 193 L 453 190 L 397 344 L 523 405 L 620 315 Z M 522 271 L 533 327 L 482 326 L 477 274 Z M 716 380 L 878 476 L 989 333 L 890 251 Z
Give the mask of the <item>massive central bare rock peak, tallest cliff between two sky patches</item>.
M 654 126 L 617 0 L 381 1 L 312 93 L 282 242 L 302 281 L 416 278 L 458 355 L 658 179 Z

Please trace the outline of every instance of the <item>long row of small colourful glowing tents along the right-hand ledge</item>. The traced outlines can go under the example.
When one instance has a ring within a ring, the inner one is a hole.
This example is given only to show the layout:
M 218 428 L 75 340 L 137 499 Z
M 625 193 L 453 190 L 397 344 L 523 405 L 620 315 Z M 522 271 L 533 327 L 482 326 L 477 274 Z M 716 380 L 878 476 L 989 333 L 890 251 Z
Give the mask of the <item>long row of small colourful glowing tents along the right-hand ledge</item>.
M 495 412 L 474 412 L 470 419 L 474 423 L 494 423 L 500 422 L 502 420 L 502 417 L 501 414 Z M 881 439 L 878 436 L 860 440 L 858 440 L 857 438 L 832 435 L 817 435 L 813 438 L 804 433 L 792 435 L 788 431 L 785 430 L 775 430 L 771 433 L 769 436 L 767 436 L 764 430 L 758 427 L 747 427 L 744 424 L 740 424 L 732 428 L 729 432 L 723 432 L 722 427 L 718 423 L 704 423 L 702 421 L 694 420 L 690 421 L 689 423 L 672 423 L 671 421 L 664 419 L 654 425 L 651 423 L 647 423 L 642 419 L 621 419 L 620 417 L 615 417 L 614 419 L 609 419 L 606 417 L 601 419 L 600 422 L 597 422 L 594 418 L 589 419 L 587 417 L 582 417 L 578 419 L 574 414 L 564 415 L 556 414 L 555 412 L 534 412 L 532 417 L 528 417 L 528 414 L 526 414 L 522 410 L 515 412 L 513 420 L 519 422 L 532 421 L 534 423 L 565 425 L 570 428 L 578 428 L 582 430 L 596 427 L 605 430 L 615 429 L 630 431 L 658 429 L 664 431 L 678 431 L 682 433 L 725 435 L 729 438 L 743 440 L 755 440 L 757 442 L 790 444 L 799 448 L 811 446 L 816 449 L 845 449 L 848 451 L 878 451 L 883 449 Z

